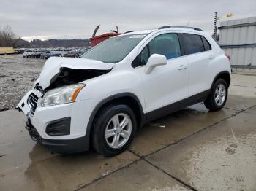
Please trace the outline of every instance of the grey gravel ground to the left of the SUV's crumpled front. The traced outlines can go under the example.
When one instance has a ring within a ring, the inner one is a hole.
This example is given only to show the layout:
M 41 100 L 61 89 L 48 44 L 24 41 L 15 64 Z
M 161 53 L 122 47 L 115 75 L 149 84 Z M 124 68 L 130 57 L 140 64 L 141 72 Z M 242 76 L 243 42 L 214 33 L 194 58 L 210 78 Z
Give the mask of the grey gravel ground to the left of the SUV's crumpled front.
M 0 111 L 14 109 L 34 85 L 45 60 L 0 55 Z

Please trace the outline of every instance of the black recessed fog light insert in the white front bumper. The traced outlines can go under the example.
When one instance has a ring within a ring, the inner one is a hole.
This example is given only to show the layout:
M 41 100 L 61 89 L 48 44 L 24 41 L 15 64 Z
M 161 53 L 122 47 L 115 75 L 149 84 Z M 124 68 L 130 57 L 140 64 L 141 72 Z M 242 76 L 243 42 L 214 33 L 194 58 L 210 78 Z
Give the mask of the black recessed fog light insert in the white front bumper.
M 70 135 L 71 117 L 64 117 L 58 120 L 48 122 L 45 132 L 49 136 L 67 136 Z

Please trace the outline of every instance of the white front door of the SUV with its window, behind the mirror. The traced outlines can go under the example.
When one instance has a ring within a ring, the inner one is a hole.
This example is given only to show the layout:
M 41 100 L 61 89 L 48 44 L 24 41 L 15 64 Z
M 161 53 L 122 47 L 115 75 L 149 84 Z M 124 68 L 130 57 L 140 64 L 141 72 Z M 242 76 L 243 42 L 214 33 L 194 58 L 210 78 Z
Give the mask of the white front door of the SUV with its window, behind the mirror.
M 181 57 L 178 35 L 174 33 L 156 36 L 140 52 L 140 62 L 146 65 L 152 54 L 165 55 L 167 64 L 155 67 L 146 74 L 143 66 L 137 67 L 142 78 L 146 112 L 151 119 L 173 112 L 187 104 L 189 93 L 189 65 Z

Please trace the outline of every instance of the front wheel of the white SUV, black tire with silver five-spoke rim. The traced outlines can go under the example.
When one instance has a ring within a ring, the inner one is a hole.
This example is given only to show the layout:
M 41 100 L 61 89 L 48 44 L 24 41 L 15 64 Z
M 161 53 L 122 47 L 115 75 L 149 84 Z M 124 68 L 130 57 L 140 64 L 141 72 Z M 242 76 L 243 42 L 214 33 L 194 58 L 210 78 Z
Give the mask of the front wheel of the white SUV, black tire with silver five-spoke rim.
M 105 157 L 111 157 L 129 147 L 137 130 L 137 121 L 129 106 L 109 105 L 97 114 L 92 128 L 94 149 Z

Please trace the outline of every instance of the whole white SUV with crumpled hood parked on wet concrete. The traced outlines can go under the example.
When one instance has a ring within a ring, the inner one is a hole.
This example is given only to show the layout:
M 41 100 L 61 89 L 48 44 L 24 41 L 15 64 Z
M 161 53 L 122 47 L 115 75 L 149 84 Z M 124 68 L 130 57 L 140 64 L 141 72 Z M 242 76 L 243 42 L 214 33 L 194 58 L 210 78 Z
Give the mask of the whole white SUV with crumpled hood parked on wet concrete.
M 199 28 L 164 26 L 110 38 L 81 58 L 49 58 L 17 106 L 53 152 L 127 149 L 148 121 L 204 101 L 222 109 L 230 61 Z

